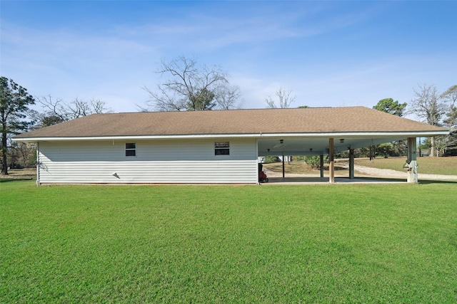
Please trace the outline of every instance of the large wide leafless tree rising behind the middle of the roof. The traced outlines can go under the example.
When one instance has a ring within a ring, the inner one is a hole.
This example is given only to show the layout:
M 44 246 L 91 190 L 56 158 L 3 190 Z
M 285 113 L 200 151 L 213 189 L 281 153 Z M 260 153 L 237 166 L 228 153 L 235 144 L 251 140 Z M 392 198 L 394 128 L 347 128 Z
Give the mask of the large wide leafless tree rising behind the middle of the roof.
M 195 59 L 180 56 L 173 61 L 162 61 L 157 73 L 166 78 L 155 90 L 144 87 L 150 98 L 140 110 L 226 109 L 239 98 L 239 89 L 229 86 L 226 72 L 217 66 L 199 65 Z

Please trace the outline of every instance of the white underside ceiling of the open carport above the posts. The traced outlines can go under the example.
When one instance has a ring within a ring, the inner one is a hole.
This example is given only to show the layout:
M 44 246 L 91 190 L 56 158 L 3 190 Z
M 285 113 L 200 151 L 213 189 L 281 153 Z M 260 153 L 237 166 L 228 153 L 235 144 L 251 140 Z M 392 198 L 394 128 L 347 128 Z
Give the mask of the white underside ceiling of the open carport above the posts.
M 406 140 L 405 137 L 341 137 L 334 138 L 334 152 L 369 147 L 386 142 Z M 328 138 L 275 137 L 258 139 L 258 156 L 328 154 Z

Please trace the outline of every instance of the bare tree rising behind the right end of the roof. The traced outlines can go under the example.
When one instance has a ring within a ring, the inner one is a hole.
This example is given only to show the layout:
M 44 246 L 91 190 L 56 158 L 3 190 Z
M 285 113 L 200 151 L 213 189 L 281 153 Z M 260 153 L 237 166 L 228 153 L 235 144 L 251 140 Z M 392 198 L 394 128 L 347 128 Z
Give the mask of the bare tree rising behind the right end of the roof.
M 411 110 L 419 119 L 425 120 L 429 125 L 441 126 L 447 105 L 441 95 L 438 94 L 435 85 L 418 85 L 413 89 L 414 98 L 411 100 Z M 430 155 L 435 156 L 435 138 L 431 137 Z

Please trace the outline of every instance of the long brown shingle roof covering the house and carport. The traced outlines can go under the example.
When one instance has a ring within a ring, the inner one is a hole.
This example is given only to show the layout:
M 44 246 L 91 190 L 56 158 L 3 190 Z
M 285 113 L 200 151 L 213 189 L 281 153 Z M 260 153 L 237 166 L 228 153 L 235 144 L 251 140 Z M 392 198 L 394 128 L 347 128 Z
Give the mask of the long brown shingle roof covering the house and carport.
M 443 131 L 370 108 L 346 107 L 94 114 L 16 138 Z

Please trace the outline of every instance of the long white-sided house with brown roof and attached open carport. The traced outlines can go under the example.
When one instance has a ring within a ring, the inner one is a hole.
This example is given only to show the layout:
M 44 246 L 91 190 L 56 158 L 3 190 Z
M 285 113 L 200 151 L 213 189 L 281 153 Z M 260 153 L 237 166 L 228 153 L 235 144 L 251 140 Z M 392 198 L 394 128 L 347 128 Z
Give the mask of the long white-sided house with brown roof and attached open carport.
M 14 140 L 37 143 L 38 184 L 256 184 L 258 157 L 281 154 L 328 154 L 332 183 L 334 152 L 408 138 L 413 168 L 416 137 L 446 134 L 346 107 L 94 114 Z

